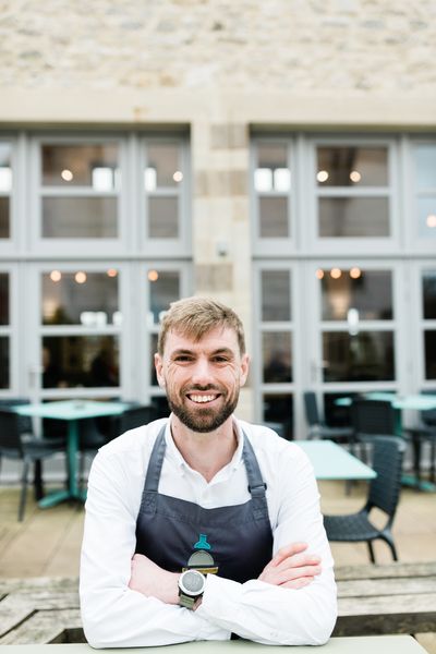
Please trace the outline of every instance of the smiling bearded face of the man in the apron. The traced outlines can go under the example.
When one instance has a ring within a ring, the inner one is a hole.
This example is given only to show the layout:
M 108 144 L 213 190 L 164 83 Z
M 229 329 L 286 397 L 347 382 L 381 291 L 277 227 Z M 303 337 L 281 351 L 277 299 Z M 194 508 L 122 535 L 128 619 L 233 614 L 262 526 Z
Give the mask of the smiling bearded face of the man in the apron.
M 237 334 L 217 327 L 194 342 L 169 331 L 164 355 L 155 354 L 157 378 L 178 419 L 193 432 L 214 432 L 234 412 L 249 373 Z

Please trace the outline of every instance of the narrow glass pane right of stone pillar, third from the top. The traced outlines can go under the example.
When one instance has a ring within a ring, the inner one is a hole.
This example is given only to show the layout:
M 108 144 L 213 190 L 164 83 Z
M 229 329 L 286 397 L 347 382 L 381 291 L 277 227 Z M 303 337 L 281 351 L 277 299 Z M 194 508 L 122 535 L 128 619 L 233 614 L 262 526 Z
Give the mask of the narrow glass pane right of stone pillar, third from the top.
M 262 319 L 291 319 L 291 279 L 289 270 L 262 271 Z

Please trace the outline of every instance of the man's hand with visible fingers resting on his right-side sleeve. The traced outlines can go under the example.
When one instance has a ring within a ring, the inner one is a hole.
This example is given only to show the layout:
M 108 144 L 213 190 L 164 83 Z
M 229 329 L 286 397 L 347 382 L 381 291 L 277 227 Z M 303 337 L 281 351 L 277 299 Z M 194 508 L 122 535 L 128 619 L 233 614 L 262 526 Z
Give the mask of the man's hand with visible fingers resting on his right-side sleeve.
M 284 589 L 302 589 L 310 584 L 322 571 L 320 558 L 313 554 L 303 554 L 306 543 L 291 543 L 281 547 L 265 566 L 258 579 Z

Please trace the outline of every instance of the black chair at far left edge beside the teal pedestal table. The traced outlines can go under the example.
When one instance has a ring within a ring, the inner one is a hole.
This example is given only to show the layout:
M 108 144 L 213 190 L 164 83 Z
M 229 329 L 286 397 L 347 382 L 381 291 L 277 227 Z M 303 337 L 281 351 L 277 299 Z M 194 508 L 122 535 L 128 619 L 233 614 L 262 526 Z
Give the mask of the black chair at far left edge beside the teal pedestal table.
M 27 479 L 31 464 L 38 465 L 35 471 L 35 497 L 44 497 L 41 461 L 59 452 L 65 451 L 63 438 L 37 438 L 28 431 L 23 431 L 22 416 L 13 409 L 0 408 L 0 463 L 1 458 L 22 461 L 21 497 L 19 506 L 19 520 L 24 518 L 27 494 Z M 31 425 L 32 426 L 32 425 Z

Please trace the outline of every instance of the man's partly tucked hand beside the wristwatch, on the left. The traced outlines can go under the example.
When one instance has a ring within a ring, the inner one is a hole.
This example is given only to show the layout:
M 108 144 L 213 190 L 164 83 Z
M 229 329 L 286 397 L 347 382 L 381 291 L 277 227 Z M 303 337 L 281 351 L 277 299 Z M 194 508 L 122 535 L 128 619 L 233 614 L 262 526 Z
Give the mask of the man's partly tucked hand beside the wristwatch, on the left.
M 179 604 L 180 574 L 164 570 L 142 554 L 134 555 L 131 569 L 129 588 L 132 591 L 143 593 L 147 597 L 157 597 L 166 604 Z

